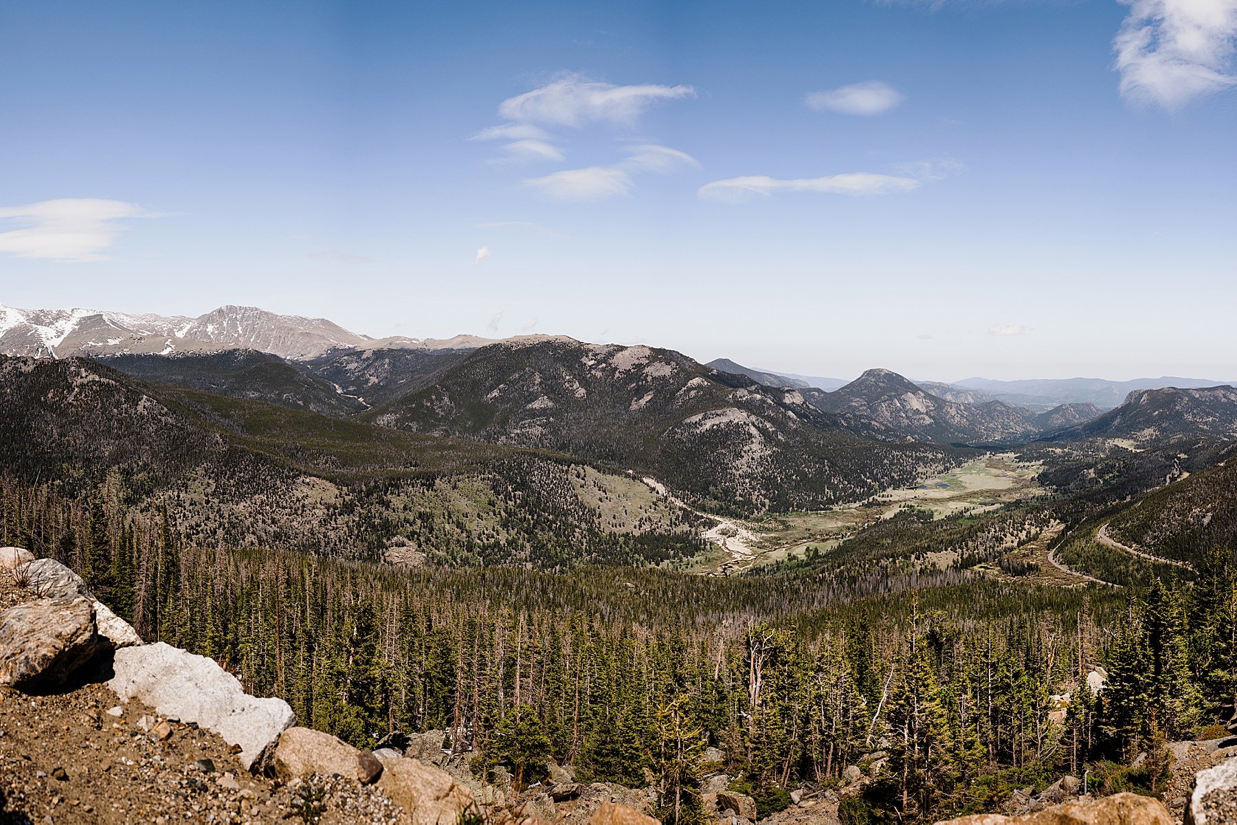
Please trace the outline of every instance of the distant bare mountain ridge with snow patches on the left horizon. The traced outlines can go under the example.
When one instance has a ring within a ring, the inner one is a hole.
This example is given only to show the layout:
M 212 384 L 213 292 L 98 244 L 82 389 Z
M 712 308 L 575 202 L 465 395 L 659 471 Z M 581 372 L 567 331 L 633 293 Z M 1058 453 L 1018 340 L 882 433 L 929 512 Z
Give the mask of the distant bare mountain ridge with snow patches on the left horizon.
M 353 333 L 325 318 L 280 315 L 257 307 L 219 307 L 198 318 L 99 309 L 17 309 L 0 304 L 0 354 L 36 357 L 251 349 L 306 360 L 336 349 L 471 350 L 494 343 L 383 338 Z

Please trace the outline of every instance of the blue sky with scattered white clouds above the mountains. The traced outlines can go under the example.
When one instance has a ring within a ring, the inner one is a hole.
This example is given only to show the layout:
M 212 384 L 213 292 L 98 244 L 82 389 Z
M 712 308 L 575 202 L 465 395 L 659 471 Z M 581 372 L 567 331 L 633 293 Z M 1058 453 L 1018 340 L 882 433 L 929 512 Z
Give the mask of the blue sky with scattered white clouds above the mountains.
M 1237 378 L 1237 0 L 9 2 L 0 302 Z

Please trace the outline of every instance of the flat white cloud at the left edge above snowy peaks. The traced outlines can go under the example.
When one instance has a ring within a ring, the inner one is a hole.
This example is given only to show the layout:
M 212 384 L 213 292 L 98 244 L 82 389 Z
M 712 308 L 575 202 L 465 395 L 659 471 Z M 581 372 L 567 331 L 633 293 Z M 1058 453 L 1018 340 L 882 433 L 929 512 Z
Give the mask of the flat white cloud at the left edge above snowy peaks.
M 21 229 L 0 233 L 0 252 L 53 261 L 103 261 L 125 218 L 160 218 L 122 200 L 62 198 L 24 207 L 0 207 L 0 219 L 12 219 Z

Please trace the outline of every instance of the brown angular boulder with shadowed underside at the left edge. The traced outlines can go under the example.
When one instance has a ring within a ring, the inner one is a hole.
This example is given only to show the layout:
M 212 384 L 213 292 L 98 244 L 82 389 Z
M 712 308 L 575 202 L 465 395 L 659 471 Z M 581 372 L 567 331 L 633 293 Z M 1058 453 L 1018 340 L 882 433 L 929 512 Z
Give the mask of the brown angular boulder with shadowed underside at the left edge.
M 54 688 L 104 647 L 94 610 L 80 596 L 10 607 L 0 613 L 0 684 Z

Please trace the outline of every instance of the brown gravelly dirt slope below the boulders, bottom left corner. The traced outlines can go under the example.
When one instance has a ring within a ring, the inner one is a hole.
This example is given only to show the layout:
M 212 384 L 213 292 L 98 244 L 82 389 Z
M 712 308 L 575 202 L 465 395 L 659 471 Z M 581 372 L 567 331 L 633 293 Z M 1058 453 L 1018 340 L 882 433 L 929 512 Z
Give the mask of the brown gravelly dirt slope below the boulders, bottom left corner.
M 374 787 L 334 777 L 251 777 L 233 748 L 139 703 L 120 715 L 100 684 L 28 696 L 0 690 L 0 823 L 396 823 Z M 143 729 L 150 729 L 147 732 Z

